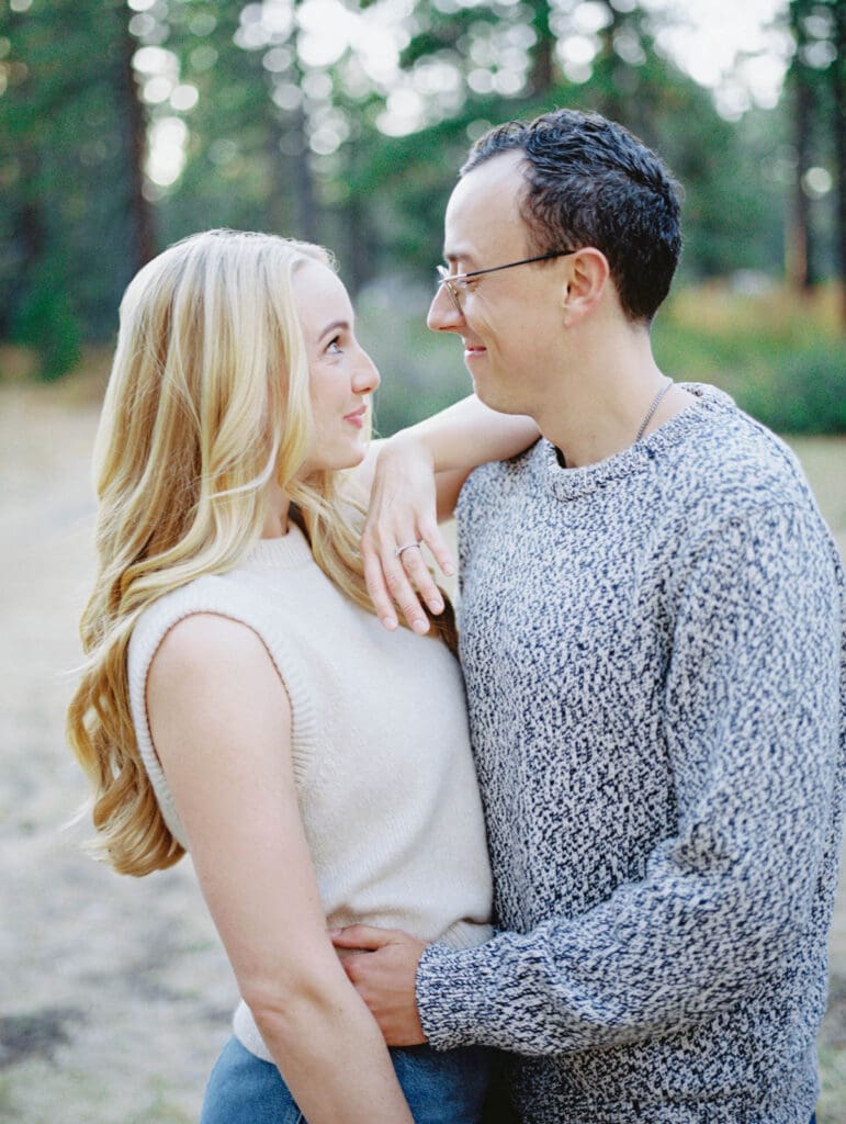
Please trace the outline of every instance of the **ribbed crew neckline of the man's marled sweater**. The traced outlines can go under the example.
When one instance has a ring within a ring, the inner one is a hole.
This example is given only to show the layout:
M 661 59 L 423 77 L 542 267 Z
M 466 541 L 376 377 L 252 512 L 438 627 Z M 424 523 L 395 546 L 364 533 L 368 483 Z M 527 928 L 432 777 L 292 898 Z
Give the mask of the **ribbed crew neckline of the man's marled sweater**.
M 557 452 L 548 441 L 540 442 L 542 474 L 544 482 L 556 499 L 573 500 L 586 496 L 598 488 L 604 488 L 624 480 L 635 472 L 651 468 L 657 456 L 708 423 L 715 415 L 724 415 L 733 402 L 728 395 L 716 387 L 695 382 L 677 383 L 698 401 L 680 410 L 657 429 L 642 437 L 635 445 L 620 450 L 612 456 L 595 464 L 579 469 L 563 469 Z

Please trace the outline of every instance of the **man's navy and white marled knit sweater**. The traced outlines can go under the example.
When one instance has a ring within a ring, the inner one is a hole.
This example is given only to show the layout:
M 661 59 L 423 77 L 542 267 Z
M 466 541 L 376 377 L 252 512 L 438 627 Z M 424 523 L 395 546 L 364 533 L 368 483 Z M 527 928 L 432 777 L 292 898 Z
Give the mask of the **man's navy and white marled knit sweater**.
M 427 950 L 439 1048 L 525 1124 L 808 1124 L 844 791 L 844 581 L 729 398 L 460 505 L 462 661 L 502 930 Z

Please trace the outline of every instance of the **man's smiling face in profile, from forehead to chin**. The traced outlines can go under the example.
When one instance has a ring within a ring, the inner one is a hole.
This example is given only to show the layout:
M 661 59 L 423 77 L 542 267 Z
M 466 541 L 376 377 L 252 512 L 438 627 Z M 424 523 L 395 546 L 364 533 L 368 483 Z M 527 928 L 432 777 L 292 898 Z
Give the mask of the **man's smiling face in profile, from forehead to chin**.
M 494 156 L 458 181 L 444 220 L 451 273 L 472 273 L 533 257 L 520 216 L 525 192 L 520 153 Z M 543 413 L 563 356 L 562 296 L 566 262 L 517 265 L 467 282 L 461 311 L 446 287 L 431 302 L 428 325 L 455 332 L 477 397 L 503 414 Z

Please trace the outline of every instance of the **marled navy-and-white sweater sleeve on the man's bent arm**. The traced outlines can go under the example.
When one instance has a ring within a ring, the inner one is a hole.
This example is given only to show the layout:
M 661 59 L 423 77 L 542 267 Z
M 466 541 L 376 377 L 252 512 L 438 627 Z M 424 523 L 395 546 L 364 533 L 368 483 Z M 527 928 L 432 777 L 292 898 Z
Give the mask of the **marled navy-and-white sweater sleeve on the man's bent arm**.
M 581 916 L 430 946 L 417 999 L 433 1045 L 625 1044 L 773 986 L 838 835 L 842 583 L 812 511 L 755 511 L 700 544 L 675 578 L 662 687 L 676 833 Z

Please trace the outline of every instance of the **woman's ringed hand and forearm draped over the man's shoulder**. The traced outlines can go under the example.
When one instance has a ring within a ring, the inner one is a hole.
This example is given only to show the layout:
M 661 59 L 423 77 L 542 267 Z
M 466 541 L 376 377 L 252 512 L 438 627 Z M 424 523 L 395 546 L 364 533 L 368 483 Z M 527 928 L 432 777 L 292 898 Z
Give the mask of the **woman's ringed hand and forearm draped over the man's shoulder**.
M 385 628 L 397 627 L 399 606 L 416 632 L 428 623 L 419 597 L 433 613 L 443 601 L 418 550 L 425 542 L 445 574 L 455 568 L 438 520 L 449 518 L 473 469 L 516 456 L 539 437 L 531 418 L 498 414 L 471 395 L 418 425 L 377 442 L 361 466 L 370 491 L 362 558 L 373 606 Z

